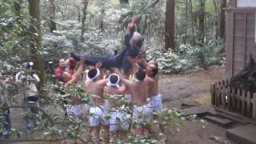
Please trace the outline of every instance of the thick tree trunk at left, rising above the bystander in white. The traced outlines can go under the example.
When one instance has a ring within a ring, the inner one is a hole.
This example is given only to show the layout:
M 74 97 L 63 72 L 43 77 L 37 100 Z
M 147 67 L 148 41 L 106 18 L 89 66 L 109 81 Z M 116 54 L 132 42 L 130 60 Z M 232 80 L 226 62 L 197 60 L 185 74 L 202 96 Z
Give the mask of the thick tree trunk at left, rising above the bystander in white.
M 30 12 L 30 57 L 34 62 L 34 70 L 37 71 L 40 78 L 39 88 L 42 87 L 44 82 L 44 64 L 40 54 L 41 46 L 41 26 L 40 26 L 40 0 L 28 0 Z

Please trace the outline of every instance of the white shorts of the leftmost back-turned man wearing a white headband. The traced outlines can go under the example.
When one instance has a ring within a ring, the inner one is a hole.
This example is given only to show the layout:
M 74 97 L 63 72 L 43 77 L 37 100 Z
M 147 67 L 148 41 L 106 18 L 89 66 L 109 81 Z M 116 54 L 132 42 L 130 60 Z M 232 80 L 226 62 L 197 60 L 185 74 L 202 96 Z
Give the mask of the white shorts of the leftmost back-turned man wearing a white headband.
M 106 118 L 109 113 L 109 104 L 105 102 L 102 106 L 90 107 L 90 126 L 99 126 L 100 124 L 109 125 L 110 120 Z

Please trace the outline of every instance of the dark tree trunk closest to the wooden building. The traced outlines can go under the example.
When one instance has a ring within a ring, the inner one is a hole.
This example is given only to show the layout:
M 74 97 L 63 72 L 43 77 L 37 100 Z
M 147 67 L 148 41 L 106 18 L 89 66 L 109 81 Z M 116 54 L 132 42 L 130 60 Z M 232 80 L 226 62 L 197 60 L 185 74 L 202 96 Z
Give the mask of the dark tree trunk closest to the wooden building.
M 219 14 L 219 25 L 218 25 L 218 37 L 225 39 L 225 11 L 223 8 L 226 7 L 226 0 L 221 0 L 220 1 L 220 14 Z

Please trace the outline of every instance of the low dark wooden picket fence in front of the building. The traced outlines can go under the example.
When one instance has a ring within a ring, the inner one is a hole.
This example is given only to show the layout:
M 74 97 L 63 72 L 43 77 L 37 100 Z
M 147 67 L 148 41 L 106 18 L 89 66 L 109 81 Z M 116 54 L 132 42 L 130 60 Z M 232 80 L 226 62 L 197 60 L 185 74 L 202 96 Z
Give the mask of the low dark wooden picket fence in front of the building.
M 211 84 L 210 93 L 213 106 L 256 120 L 256 93 L 230 88 L 228 79 Z

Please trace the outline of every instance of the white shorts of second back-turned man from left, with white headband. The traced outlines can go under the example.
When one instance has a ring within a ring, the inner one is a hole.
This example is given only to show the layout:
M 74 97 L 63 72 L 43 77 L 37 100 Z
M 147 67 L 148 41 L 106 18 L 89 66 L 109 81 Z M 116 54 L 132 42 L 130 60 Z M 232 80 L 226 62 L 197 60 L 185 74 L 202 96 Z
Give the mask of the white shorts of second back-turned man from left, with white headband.
M 130 114 L 125 111 L 116 111 L 110 114 L 110 132 L 116 130 L 128 130 L 128 118 Z

